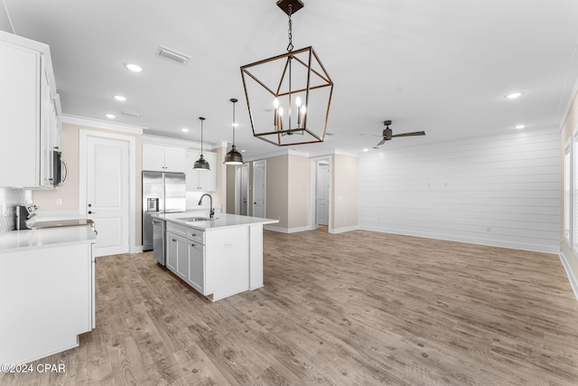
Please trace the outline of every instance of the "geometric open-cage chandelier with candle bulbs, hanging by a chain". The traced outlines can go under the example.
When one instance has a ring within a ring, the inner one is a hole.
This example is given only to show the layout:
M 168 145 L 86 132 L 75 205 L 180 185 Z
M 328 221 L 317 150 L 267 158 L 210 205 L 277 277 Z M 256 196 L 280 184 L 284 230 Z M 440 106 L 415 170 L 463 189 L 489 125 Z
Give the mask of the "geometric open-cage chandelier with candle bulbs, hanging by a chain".
M 289 16 L 287 52 L 241 66 L 253 136 L 276 146 L 323 142 L 333 82 L 313 48 L 294 51 L 291 16 L 301 0 L 279 0 Z

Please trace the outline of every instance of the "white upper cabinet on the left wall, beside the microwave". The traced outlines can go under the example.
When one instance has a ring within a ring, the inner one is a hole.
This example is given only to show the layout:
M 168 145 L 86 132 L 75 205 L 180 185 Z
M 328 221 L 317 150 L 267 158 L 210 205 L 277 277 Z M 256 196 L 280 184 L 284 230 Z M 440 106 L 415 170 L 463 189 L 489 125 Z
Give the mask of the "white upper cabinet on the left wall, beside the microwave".
M 60 102 L 49 46 L 0 31 L 0 186 L 53 188 Z

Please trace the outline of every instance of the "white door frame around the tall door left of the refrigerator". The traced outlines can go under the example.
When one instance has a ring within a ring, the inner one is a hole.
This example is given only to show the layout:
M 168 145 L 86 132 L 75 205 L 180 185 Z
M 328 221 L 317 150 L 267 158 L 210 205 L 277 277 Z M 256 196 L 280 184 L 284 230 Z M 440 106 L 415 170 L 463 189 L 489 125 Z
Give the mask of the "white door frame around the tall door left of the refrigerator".
M 87 167 L 89 137 L 128 142 L 128 253 L 142 252 L 136 247 L 136 138 L 122 134 L 79 129 L 79 211 L 87 207 Z

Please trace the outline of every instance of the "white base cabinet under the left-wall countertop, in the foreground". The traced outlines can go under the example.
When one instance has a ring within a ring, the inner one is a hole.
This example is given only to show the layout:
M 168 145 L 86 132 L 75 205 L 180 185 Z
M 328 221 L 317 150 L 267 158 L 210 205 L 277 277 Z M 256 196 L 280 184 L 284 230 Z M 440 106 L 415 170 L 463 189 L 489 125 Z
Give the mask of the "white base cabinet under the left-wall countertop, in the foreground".
M 95 327 L 94 278 L 92 243 L 0 253 L 0 363 L 78 346 Z

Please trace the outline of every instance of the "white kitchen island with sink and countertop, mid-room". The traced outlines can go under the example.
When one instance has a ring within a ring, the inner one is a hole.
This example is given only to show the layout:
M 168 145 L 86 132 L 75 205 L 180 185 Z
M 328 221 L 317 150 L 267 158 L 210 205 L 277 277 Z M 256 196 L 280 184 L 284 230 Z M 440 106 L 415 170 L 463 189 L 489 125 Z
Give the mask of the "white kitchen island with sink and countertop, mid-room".
M 263 287 L 263 225 L 278 221 L 199 213 L 153 215 L 165 222 L 166 268 L 213 302 Z

